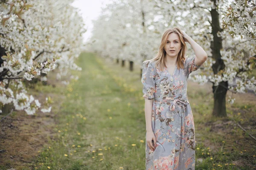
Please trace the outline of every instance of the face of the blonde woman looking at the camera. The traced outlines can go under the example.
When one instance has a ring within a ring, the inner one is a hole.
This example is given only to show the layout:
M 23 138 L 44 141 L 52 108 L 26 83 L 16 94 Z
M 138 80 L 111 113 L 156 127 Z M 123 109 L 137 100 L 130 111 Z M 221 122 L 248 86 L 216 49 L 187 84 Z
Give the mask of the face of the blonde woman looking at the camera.
M 174 32 L 169 34 L 164 49 L 167 56 L 177 57 L 181 49 L 180 37 Z

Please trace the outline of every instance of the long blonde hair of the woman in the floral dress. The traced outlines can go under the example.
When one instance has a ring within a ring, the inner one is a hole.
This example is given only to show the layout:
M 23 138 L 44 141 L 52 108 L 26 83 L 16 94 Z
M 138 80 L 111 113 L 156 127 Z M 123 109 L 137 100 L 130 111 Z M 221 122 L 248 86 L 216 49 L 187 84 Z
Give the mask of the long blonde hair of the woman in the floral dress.
M 165 33 L 163 34 L 163 37 L 162 37 L 161 44 L 160 44 L 160 47 L 159 47 L 159 51 L 157 52 L 157 55 L 153 59 L 149 59 L 149 60 L 146 60 L 144 62 L 154 61 L 156 67 L 159 68 L 160 71 L 164 70 L 164 68 L 166 67 L 166 64 L 164 62 L 164 59 L 166 57 L 166 51 L 164 49 L 164 46 L 167 42 L 168 35 L 172 34 L 172 33 L 176 33 L 179 36 L 180 42 L 181 42 L 181 49 L 180 49 L 180 52 L 179 52 L 179 54 L 177 56 L 177 60 L 176 60 L 177 68 L 178 69 L 184 68 L 183 60 L 185 60 L 185 54 L 186 54 L 187 46 L 186 46 L 186 43 L 183 39 L 183 35 L 181 34 L 181 30 L 178 27 L 171 28 L 171 29 L 168 29 L 168 30 L 165 31 Z

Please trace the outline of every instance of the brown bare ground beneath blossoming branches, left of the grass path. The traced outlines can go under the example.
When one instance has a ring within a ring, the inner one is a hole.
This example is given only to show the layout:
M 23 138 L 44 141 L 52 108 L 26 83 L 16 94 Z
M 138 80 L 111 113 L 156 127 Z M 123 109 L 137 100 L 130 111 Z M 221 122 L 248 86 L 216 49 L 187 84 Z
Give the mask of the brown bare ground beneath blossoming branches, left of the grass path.
M 55 79 L 54 75 L 52 77 Z M 51 81 L 51 85 L 64 86 L 55 80 Z M 0 122 L 0 169 L 1 166 L 5 169 L 33 169 L 32 163 L 39 155 L 38 151 L 48 140 L 55 139 L 53 129 L 57 122 L 56 111 L 61 107 L 65 96 L 38 92 L 32 95 L 41 104 L 50 96 L 53 101 L 51 112 L 43 113 L 38 110 L 35 115 L 27 115 L 25 111 L 15 111 Z

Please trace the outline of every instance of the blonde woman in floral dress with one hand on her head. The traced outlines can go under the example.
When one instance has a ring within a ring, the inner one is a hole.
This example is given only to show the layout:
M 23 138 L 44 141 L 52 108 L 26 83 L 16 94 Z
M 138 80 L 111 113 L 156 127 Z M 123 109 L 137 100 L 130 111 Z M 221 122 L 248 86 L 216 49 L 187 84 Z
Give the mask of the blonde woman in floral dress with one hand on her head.
M 189 42 L 196 57 L 185 58 Z M 180 28 L 168 29 L 157 55 L 143 62 L 146 170 L 195 170 L 195 125 L 187 79 L 207 53 Z

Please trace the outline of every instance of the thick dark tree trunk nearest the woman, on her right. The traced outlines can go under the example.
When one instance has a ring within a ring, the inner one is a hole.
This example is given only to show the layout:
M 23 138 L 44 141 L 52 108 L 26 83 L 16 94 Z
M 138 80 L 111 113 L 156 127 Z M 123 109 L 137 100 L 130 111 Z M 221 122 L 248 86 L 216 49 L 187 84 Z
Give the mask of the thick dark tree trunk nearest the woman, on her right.
M 212 0 L 214 5 L 216 5 L 216 0 Z M 221 32 L 223 29 L 220 27 L 219 14 L 216 9 L 210 11 L 212 17 L 212 35 L 213 41 L 211 42 L 210 48 L 212 49 L 212 57 L 215 59 L 215 63 L 212 65 L 212 70 L 214 74 L 218 74 L 219 71 L 224 70 L 225 64 L 221 59 L 220 50 L 222 48 L 222 39 L 218 37 L 218 31 Z M 214 106 L 212 115 L 218 117 L 227 116 L 226 113 L 226 94 L 227 94 L 228 82 L 220 82 L 218 86 L 212 85 L 212 91 L 214 93 Z

